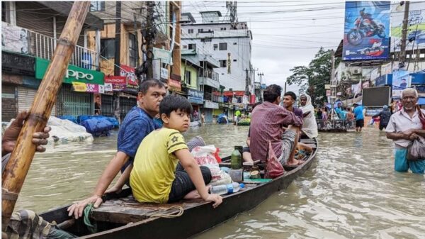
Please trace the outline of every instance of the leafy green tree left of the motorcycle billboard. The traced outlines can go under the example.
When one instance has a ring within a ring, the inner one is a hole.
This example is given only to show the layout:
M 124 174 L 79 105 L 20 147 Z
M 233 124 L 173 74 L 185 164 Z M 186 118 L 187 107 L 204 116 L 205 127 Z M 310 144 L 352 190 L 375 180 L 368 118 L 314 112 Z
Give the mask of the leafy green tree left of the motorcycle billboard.
M 331 50 L 320 48 L 308 67 L 293 67 L 290 70 L 293 74 L 286 80 L 289 85 L 298 84 L 301 91 L 309 94 L 314 106 L 322 106 L 327 101 L 324 84 L 330 84 L 331 66 Z

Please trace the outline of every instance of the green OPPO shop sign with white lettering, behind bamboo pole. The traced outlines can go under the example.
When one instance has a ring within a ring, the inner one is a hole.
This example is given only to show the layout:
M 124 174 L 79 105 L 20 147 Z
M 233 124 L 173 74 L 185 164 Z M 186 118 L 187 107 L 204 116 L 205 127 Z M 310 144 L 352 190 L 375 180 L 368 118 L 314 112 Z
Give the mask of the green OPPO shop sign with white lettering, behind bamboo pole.
M 42 79 L 47 66 L 49 65 L 48 60 L 35 58 L 35 78 Z M 68 65 L 68 70 L 65 73 L 64 83 L 72 84 L 72 82 L 84 82 L 90 84 L 103 84 L 105 74 L 103 72 L 96 72 L 94 70 L 87 70 L 74 65 Z

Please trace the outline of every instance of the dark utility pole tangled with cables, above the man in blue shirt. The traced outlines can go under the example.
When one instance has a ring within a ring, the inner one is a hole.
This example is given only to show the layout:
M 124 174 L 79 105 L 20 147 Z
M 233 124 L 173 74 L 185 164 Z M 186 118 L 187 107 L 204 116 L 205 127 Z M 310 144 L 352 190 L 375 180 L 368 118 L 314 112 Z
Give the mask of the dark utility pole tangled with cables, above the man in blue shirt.
M 147 14 L 146 14 L 146 35 L 147 42 L 147 79 L 152 79 L 153 74 L 153 60 L 154 60 L 154 1 L 147 1 Z M 162 67 L 162 66 L 161 66 Z

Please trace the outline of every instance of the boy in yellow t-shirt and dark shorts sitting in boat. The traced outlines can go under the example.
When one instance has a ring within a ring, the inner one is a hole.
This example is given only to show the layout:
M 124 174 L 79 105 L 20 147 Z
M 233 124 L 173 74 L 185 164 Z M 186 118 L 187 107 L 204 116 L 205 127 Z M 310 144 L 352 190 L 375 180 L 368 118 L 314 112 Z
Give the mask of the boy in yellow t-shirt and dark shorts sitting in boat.
M 192 110 L 182 96 L 169 95 L 162 100 L 159 114 L 163 127 L 142 140 L 130 174 L 137 201 L 165 204 L 200 197 L 214 202 L 214 207 L 222 203 L 220 195 L 208 194 L 205 184 L 210 182 L 211 172 L 208 167 L 199 167 L 181 135 L 189 128 Z M 176 171 L 179 161 L 185 170 Z

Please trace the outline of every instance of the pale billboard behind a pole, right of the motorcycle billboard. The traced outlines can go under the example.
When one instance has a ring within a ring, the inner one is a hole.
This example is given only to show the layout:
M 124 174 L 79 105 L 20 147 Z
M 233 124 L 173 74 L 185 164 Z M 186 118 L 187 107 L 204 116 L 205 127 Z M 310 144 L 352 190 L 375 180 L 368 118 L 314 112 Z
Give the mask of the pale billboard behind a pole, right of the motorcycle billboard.
M 399 52 L 402 45 L 404 4 L 391 6 L 391 51 Z M 410 1 L 407 23 L 406 50 L 425 49 L 425 1 Z

